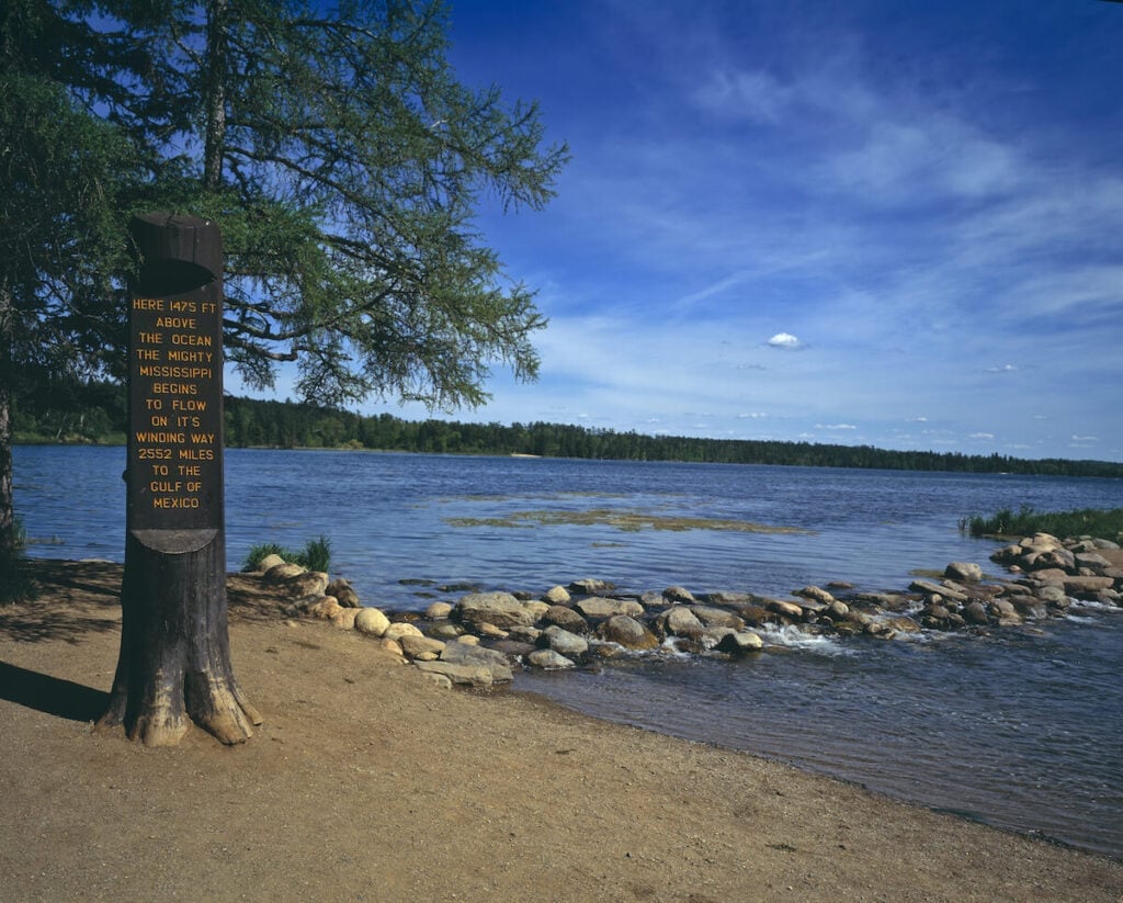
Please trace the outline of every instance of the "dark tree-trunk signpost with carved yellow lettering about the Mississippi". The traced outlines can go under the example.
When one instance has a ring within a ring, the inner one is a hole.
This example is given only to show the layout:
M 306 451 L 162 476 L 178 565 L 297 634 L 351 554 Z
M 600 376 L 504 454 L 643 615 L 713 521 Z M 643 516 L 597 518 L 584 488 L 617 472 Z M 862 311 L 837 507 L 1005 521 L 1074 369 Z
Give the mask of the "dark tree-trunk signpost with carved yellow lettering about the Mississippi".
M 222 245 L 198 217 L 129 228 L 129 439 L 121 651 L 99 724 L 170 746 L 190 717 L 223 742 L 261 718 L 230 668 L 222 496 Z

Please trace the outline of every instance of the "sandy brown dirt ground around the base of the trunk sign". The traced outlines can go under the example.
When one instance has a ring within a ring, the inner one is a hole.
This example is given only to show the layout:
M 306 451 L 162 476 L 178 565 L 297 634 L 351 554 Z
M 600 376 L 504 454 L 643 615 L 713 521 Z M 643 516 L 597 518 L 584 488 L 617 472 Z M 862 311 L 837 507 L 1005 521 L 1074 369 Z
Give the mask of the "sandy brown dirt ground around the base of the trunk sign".
M 95 733 L 120 568 L 0 609 L 0 900 L 1120 901 L 1123 864 L 511 692 L 440 690 L 230 583 L 265 722 Z

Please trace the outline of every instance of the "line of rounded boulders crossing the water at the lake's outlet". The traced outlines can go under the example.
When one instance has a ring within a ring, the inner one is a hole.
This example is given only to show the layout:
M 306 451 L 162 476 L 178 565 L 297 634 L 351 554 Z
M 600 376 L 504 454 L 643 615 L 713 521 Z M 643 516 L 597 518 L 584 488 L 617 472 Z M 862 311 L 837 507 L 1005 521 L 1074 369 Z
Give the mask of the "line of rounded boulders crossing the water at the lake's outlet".
M 286 617 L 357 630 L 441 685 L 476 687 L 511 681 L 512 668 L 585 667 L 637 650 L 743 656 L 768 646 L 778 628 L 889 640 L 924 630 L 1044 622 L 1080 603 L 1123 605 L 1123 550 L 1115 542 L 1037 533 L 990 558 L 1006 576 L 987 577 L 978 564 L 955 562 L 942 578 L 914 580 L 900 593 L 831 583 L 805 586 L 791 599 L 750 592 L 695 596 L 684 586 L 636 594 L 579 580 L 540 595 L 467 592 L 424 612 L 364 606 L 347 581 L 329 581 L 277 556 L 265 558 L 258 574 Z

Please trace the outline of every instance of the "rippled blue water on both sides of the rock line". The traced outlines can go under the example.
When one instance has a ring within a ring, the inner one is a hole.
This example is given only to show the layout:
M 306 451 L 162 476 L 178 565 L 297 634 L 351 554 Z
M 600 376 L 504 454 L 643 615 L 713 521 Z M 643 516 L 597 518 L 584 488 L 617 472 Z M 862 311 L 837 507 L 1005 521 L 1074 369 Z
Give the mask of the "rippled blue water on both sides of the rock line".
M 17 447 L 33 555 L 124 557 L 124 448 Z M 600 577 L 786 595 L 913 572 L 995 544 L 958 521 L 1030 505 L 1123 507 L 1123 481 L 345 452 L 226 454 L 231 569 L 250 546 L 332 542 L 366 604 Z M 641 529 L 622 530 L 621 516 Z M 659 520 L 666 519 L 666 520 Z M 651 529 L 682 519 L 786 532 Z M 517 686 L 615 721 L 791 761 L 967 818 L 1123 857 L 1123 611 L 1043 635 L 842 642 L 791 633 L 740 662 L 646 656 Z

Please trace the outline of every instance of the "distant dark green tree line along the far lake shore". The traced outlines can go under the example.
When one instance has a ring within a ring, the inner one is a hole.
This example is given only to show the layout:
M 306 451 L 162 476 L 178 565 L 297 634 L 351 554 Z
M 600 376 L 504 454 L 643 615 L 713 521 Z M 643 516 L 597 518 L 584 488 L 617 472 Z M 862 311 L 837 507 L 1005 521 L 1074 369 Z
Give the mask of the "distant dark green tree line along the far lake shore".
M 560 458 L 700 464 L 782 464 L 889 471 L 1016 473 L 1123 477 L 1123 464 L 1025 459 L 958 452 L 892 452 L 871 446 L 770 439 L 646 436 L 565 423 L 460 423 L 363 416 L 318 404 L 227 396 L 231 448 L 354 448 L 449 455 L 541 455 Z M 17 441 L 121 443 L 128 429 L 122 386 L 109 383 L 22 386 L 15 404 Z

